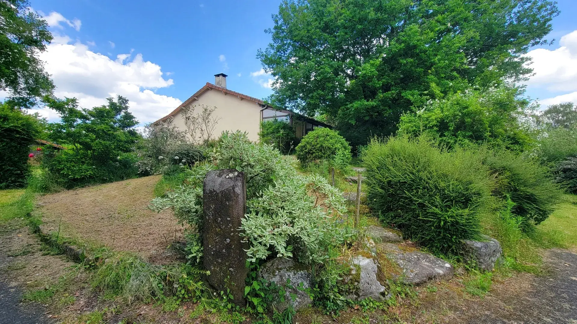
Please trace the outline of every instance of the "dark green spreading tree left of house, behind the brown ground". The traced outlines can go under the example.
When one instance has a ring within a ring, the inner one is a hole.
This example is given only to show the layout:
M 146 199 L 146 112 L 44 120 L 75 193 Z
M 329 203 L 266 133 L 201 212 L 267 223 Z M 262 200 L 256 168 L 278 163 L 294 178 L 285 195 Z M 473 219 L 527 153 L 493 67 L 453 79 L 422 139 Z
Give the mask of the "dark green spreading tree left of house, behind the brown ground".
M 108 104 L 78 109 L 76 98 L 48 98 L 47 105 L 61 117 L 50 123 L 48 138 L 68 150 L 46 160 L 48 170 L 62 177 L 66 188 L 133 177 L 134 150 L 141 135 L 138 121 L 128 111 L 128 99 L 107 98 Z

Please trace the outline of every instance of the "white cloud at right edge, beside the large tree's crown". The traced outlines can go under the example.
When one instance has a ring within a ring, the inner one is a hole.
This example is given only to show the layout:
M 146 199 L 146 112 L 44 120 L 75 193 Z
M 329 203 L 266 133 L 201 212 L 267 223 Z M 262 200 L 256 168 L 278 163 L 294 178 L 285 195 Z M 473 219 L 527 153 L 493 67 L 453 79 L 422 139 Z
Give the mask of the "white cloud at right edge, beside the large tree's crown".
M 577 91 L 577 31 L 561 37 L 561 47 L 553 51 L 533 49 L 526 54 L 533 63 L 534 75 L 527 85 L 544 87 L 551 92 Z

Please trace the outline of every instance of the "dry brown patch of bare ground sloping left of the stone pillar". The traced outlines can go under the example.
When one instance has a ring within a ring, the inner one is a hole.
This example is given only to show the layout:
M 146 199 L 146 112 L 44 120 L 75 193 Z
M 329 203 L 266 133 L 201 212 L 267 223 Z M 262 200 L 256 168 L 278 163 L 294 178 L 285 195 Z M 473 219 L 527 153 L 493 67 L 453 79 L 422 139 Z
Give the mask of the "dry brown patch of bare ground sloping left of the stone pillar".
M 64 237 L 133 251 L 155 264 L 173 262 L 167 247 L 184 241 L 184 227 L 171 211 L 147 209 L 159 179 L 136 178 L 39 197 L 43 231 L 59 230 Z

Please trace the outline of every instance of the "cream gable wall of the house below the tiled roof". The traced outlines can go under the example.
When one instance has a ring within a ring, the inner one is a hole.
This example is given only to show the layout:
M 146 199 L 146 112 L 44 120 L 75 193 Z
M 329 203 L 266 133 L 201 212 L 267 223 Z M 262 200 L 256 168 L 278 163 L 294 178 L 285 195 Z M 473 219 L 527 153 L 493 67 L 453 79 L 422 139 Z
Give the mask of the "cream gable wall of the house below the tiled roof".
M 212 89 L 200 94 L 198 100 L 193 101 L 191 105 L 197 106 L 195 113 L 201 111 L 201 105 L 216 107 L 213 116 L 220 117 L 214 132 L 217 138 L 223 131 L 234 132 L 238 129 L 248 132 L 248 137 L 253 142 L 258 141 L 261 106 L 256 102 L 246 99 L 240 100 L 233 94 L 225 95 L 222 91 Z M 183 131 L 186 130 L 186 125 L 180 112 L 174 116 L 173 124 Z

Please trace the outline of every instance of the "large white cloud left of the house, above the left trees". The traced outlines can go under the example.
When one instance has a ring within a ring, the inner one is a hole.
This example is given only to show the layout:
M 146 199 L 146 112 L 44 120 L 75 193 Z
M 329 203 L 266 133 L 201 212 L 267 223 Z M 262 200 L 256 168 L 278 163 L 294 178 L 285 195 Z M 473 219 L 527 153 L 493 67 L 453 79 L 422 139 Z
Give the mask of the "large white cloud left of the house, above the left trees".
M 155 89 L 174 84 L 163 78 L 158 64 L 145 61 L 142 54 L 119 54 L 115 60 L 92 52 L 88 46 L 70 37 L 57 36 L 40 59 L 52 75 L 58 98 L 76 97 L 80 106 L 92 108 L 106 104 L 106 98 L 121 95 L 128 98 L 130 112 L 141 123 L 166 116 L 182 102 L 178 98 L 156 94 Z M 58 119 L 54 110 L 35 109 L 43 117 Z

